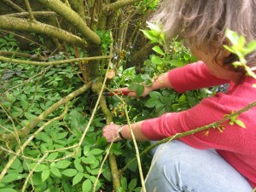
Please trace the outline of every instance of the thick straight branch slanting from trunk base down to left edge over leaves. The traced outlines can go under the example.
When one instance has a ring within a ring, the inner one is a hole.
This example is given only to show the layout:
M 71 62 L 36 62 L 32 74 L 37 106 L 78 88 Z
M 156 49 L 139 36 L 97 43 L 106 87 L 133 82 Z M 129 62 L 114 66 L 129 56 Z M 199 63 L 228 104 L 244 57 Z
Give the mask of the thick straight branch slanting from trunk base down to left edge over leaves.
M 19 137 L 26 137 L 33 128 L 35 128 L 40 122 L 42 122 L 50 113 L 53 113 L 57 108 L 59 108 L 61 105 L 71 101 L 73 98 L 81 95 L 86 90 L 89 90 L 91 87 L 91 83 L 84 84 L 81 88 L 78 90 L 73 91 L 69 95 L 62 98 L 59 102 L 55 102 L 52 106 L 50 106 L 48 109 L 46 109 L 43 113 L 38 115 L 35 119 L 32 119 L 29 123 L 27 123 L 21 130 L 17 131 L 17 135 Z M 4 141 L 13 140 L 15 136 L 13 134 L 4 134 L 0 137 Z

